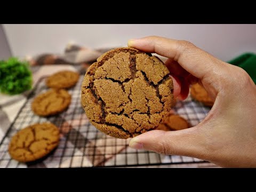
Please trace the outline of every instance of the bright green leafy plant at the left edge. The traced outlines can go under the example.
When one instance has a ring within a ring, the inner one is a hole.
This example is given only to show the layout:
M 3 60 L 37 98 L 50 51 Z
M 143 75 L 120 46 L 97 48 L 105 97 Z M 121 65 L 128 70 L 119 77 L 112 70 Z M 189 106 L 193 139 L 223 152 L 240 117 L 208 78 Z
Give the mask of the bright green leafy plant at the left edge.
M 14 95 L 31 87 L 32 73 L 28 62 L 13 57 L 0 61 L 0 92 Z

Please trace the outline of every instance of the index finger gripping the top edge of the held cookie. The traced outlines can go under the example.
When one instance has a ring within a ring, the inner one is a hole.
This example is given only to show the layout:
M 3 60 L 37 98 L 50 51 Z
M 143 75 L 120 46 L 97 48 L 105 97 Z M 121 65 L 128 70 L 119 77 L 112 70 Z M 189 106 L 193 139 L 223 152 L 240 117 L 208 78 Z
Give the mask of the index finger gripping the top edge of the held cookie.
M 201 79 L 210 72 L 212 74 L 219 63 L 218 59 L 187 41 L 150 36 L 131 39 L 128 46 L 173 59 L 188 73 Z

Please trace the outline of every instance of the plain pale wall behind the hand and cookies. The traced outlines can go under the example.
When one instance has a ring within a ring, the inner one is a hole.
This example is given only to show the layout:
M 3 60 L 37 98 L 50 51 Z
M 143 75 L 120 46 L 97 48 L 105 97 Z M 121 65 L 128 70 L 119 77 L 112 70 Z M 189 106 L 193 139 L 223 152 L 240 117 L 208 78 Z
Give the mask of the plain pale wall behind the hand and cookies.
M 222 60 L 256 52 L 256 25 L 4 25 L 13 55 L 62 53 L 70 41 L 100 48 L 126 46 L 130 38 L 186 39 Z

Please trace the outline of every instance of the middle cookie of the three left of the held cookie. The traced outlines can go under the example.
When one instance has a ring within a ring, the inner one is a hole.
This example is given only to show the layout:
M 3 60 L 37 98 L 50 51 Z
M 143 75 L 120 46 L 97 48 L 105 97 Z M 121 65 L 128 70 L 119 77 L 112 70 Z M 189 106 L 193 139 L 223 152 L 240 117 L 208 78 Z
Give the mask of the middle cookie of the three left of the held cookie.
M 49 116 L 65 110 L 71 101 L 66 90 L 50 90 L 39 94 L 32 102 L 31 108 L 39 116 Z

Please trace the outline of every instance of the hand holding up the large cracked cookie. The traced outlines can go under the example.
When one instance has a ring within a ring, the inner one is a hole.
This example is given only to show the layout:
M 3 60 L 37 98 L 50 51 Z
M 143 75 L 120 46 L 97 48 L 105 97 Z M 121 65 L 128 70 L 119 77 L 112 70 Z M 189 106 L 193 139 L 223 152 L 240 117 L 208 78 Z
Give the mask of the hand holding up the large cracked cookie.
M 165 65 L 174 97 L 186 99 L 189 85 L 198 82 L 215 100 L 198 125 L 143 133 L 131 139 L 131 148 L 195 157 L 222 167 L 256 167 L 256 85 L 245 70 L 187 41 L 150 36 L 131 39 L 128 46 L 169 58 Z

